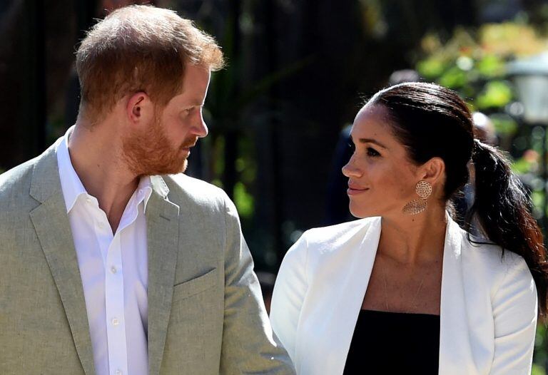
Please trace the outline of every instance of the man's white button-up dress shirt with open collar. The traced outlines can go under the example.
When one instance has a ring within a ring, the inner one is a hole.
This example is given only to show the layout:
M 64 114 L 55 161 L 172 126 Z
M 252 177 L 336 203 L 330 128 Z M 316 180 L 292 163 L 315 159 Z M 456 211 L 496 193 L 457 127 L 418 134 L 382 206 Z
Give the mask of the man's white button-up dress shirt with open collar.
M 112 233 L 96 197 L 86 192 L 68 153 L 57 146 L 59 176 L 86 299 L 97 375 L 148 374 L 146 204 L 151 180 L 141 178 Z

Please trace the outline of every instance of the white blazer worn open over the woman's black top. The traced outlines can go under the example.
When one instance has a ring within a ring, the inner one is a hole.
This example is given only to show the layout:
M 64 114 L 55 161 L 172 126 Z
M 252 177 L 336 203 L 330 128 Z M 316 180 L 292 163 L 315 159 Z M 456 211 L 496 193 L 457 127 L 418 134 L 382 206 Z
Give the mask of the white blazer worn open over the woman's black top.
M 447 215 L 440 375 L 530 374 L 537 290 L 527 264 L 472 245 Z M 340 375 L 375 261 L 380 217 L 304 233 L 282 262 L 270 321 L 298 375 Z M 364 362 L 367 354 L 364 354 Z

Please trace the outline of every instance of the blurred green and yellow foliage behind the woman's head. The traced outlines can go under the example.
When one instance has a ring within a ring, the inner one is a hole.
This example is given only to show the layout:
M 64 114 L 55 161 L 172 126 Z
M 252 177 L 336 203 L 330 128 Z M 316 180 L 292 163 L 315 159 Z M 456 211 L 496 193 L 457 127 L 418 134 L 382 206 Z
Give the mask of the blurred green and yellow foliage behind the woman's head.
M 533 129 L 520 125 L 519 118 L 509 111 L 517 98 L 507 79 L 506 64 L 547 49 L 546 31 L 535 29 L 526 21 L 461 27 L 447 39 L 435 33 L 422 38 L 416 69 L 427 81 L 459 92 L 472 111 L 489 115 L 499 145 L 516 161 L 514 171 L 524 175 L 537 173 L 538 163 L 531 157 L 539 157 L 542 143 L 532 137 Z M 537 154 L 525 155 L 529 149 Z

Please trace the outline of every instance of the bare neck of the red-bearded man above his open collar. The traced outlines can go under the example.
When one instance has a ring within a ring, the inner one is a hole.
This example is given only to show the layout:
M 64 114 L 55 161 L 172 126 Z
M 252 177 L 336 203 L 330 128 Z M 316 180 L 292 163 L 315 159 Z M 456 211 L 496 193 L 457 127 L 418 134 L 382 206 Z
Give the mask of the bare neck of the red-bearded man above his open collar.
M 124 164 L 116 133 L 106 134 L 104 128 L 98 128 L 106 125 L 91 125 L 92 130 L 76 123 L 67 146 L 78 178 L 88 194 L 97 198 L 115 233 L 139 178 Z

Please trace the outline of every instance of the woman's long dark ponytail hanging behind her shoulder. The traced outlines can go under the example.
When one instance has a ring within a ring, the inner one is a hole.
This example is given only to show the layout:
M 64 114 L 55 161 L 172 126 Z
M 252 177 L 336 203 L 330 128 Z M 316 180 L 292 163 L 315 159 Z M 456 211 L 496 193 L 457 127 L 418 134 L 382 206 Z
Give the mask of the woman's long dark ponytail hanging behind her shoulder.
M 497 148 L 475 140 L 472 161 L 475 200 L 467 212 L 466 229 L 470 232 L 475 217 L 490 241 L 524 258 L 537 285 L 539 311 L 544 315 L 548 264 L 542 231 L 530 213 L 527 192 Z

